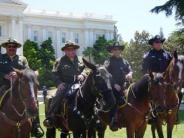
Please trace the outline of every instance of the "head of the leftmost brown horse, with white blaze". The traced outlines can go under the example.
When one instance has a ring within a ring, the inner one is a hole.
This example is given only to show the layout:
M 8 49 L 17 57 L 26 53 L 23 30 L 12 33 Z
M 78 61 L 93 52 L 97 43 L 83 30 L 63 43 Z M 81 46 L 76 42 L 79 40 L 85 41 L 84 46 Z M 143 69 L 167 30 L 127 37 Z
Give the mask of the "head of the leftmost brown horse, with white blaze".
M 31 69 L 16 70 L 18 77 L 15 85 L 18 87 L 17 96 L 25 106 L 26 114 L 29 117 L 37 115 L 37 91 L 38 91 L 38 80 L 36 73 Z

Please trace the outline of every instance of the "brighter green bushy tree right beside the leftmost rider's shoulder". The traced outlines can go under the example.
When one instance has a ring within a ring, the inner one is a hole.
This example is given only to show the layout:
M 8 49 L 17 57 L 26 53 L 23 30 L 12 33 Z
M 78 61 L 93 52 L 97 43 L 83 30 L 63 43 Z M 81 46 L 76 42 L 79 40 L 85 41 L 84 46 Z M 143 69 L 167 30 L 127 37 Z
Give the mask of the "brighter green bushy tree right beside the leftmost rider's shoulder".
M 38 44 L 34 41 L 27 40 L 23 46 L 23 53 L 28 60 L 30 68 L 38 70 L 41 64 Z

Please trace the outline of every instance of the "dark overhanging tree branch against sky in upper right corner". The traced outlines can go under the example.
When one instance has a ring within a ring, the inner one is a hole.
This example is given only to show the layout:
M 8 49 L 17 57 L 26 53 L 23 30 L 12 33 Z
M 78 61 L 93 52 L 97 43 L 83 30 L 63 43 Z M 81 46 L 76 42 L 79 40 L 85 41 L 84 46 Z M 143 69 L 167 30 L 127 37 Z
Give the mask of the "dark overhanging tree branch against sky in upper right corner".
M 183 0 L 168 0 L 166 3 L 160 6 L 154 7 L 151 12 L 160 13 L 165 12 L 166 16 L 173 14 L 175 10 L 176 20 L 181 20 L 184 23 L 184 1 Z

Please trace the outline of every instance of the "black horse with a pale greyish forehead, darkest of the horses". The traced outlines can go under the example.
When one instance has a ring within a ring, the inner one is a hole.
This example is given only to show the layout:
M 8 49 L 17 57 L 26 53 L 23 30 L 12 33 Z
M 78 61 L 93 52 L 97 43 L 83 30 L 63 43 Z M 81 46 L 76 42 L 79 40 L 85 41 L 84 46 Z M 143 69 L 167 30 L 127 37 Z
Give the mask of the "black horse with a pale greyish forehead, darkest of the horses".
M 103 66 L 97 67 L 85 59 L 83 59 L 83 63 L 91 71 L 74 96 L 68 98 L 64 109 L 68 118 L 68 128 L 72 131 L 73 138 L 86 138 L 88 135 L 92 135 L 88 130 L 96 123 L 97 117 L 94 109 L 97 99 L 103 99 L 101 109 L 103 111 L 109 111 L 115 104 L 110 84 L 111 74 Z M 65 130 L 61 118 L 58 118 L 56 123 L 56 128 Z M 47 136 L 47 138 L 54 137 L 55 134 Z M 61 133 L 61 137 L 64 138 L 66 135 Z

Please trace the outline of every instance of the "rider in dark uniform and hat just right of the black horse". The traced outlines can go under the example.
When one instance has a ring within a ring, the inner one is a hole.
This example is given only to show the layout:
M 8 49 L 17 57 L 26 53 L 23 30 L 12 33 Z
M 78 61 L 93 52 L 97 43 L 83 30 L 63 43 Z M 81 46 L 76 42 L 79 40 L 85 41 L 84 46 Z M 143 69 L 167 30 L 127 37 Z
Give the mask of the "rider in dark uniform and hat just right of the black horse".
M 124 83 L 126 80 L 132 80 L 132 69 L 125 59 L 121 57 L 121 53 L 124 50 L 124 46 L 118 42 L 107 47 L 107 50 L 111 53 L 110 58 L 105 61 L 105 66 L 108 71 L 112 74 L 111 85 L 113 88 L 113 94 L 116 98 L 116 106 L 110 111 L 110 129 L 112 131 L 118 130 L 117 126 L 117 109 L 118 107 L 125 104 L 122 91 L 124 90 Z

